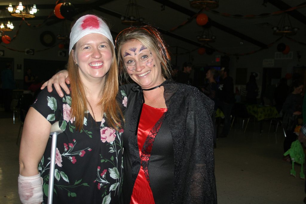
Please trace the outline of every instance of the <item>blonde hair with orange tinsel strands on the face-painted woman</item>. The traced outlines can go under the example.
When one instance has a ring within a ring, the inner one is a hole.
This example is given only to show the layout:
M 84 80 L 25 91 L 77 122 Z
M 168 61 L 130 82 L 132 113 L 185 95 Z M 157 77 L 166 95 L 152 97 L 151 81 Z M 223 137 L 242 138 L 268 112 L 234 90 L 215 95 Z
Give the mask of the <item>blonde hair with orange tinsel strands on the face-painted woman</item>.
M 166 79 L 171 77 L 171 58 L 170 54 L 166 48 L 166 43 L 161 37 L 161 34 L 157 31 L 156 28 L 146 25 L 142 27 L 129 27 L 121 31 L 115 40 L 115 45 L 117 48 L 118 55 L 118 68 L 122 73 L 124 73 L 125 80 L 129 81 L 127 73 L 124 71 L 125 66 L 123 63 L 123 58 L 120 54 L 121 47 L 133 40 L 139 40 L 143 45 L 147 46 L 150 50 L 153 50 L 161 61 L 162 66 L 162 76 Z

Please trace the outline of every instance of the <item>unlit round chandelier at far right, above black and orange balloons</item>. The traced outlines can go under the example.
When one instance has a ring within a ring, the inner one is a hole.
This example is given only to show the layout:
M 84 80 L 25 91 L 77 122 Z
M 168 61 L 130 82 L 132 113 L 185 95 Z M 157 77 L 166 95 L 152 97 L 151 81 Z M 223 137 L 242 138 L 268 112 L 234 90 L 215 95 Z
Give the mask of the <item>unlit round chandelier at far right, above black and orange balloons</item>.
M 277 26 L 272 29 L 273 35 L 296 35 L 299 28 L 293 28 L 288 13 L 283 13 Z

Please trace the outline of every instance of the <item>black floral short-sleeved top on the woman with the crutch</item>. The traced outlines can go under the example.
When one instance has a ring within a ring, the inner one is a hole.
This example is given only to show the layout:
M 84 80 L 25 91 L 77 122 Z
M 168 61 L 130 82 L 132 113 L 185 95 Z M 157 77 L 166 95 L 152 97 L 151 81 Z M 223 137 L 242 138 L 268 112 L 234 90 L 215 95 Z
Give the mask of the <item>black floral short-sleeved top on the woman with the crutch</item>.
M 118 203 L 122 190 L 123 129 L 108 127 L 105 114 L 102 121 L 95 122 L 87 112 L 83 128 L 77 131 L 75 118 L 69 117 L 70 95 L 60 98 L 55 91 L 48 93 L 44 89 L 32 107 L 51 124 L 59 121 L 63 130 L 57 140 L 53 203 Z M 43 178 L 44 203 L 48 197 L 50 152 L 51 137 L 38 167 Z

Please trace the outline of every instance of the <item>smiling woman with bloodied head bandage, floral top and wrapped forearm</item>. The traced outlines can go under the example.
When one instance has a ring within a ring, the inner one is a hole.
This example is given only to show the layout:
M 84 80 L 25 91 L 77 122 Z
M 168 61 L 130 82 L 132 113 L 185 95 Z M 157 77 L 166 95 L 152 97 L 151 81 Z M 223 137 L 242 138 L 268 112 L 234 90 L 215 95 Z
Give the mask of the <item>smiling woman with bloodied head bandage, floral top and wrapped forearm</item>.
M 22 203 L 47 203 L 51 125 L 59 121 L 53 203 L 118 203 L 122 113 L 118 65 L 105 21 L 80 17 L 70 33 L 70 94 L 43 90 L 25 118 L 20 145 Z

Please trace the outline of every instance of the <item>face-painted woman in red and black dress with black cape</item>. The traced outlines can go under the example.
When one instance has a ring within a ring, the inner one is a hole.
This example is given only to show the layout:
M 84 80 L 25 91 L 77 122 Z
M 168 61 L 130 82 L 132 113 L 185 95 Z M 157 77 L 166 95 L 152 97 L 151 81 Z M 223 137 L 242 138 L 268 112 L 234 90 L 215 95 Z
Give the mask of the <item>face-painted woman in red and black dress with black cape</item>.
M 125 106 L 122 202 L 217 203 L 213 101 L 167 80 L 170 56 L 155 28 L 127 28 L 115 44 L 119 69 L 135 82 L 119 87 Z M 48 86 L 63 84 L 65 74 L 58 76 Z

